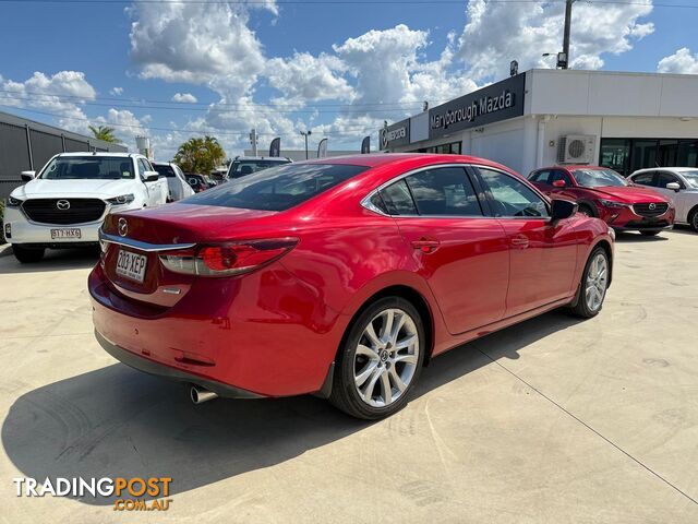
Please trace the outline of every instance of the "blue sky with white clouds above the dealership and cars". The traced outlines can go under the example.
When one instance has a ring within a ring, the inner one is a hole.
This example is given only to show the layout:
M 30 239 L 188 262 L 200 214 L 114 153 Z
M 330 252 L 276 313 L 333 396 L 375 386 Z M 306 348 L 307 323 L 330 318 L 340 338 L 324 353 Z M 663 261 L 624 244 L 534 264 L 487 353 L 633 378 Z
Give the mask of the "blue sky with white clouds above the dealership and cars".
M 239 154 L 252 126 L 262 148 L 277 134 L 300 146 L 308 128 L 330 148 L 358 148 L 384 119 L 496 81 L 510 59 L 551 64 L 540 55 L 561 47 L 562 9 L 0 1 L 0 110 L 79 132 L 112 126 L 131 147 L 146 133 L 161 158 L 203 132 Z M 577 3 L 574 66 L 698 73 L 697 16 L 650 1 Z

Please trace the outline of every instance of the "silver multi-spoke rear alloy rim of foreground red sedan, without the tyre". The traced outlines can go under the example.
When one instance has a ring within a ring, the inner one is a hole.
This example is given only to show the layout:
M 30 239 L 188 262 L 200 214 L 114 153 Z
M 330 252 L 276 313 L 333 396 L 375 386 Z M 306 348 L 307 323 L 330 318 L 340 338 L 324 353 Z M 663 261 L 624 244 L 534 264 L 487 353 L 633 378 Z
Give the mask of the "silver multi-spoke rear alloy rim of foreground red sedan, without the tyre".
M 385 407 L 407 391 L 419 362 L 419 333 L 404 310 L 385 309 L 368 323 L 354 352 L 353 380 L 360 398 Z

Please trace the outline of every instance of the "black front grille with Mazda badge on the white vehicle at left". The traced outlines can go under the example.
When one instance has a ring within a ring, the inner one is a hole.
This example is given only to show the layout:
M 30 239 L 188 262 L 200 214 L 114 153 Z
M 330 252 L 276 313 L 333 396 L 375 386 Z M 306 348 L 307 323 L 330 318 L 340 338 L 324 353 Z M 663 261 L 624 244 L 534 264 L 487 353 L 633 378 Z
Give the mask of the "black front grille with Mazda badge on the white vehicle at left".
M 96 222 L 101 218 L 105 206 L 99 199 L 29 199 L 22 204 L 22 210 L 33 222 L 63 226 Z

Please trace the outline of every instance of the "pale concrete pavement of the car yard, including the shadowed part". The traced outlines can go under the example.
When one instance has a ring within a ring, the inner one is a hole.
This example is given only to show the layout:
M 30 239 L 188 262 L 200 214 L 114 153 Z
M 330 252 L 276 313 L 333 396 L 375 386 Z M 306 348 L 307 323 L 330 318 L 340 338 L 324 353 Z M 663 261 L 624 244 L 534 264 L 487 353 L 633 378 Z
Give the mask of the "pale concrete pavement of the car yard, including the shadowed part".
M 366 424 L 313 397 L 192 405 L 94 341 L 94 254 L 0 258 L 0 521 L 698 522 L 698 235 L 618 239 L 595 319 L 433 361 Z M 164 513 L 17 498 L 13 477 L 169 476 Z

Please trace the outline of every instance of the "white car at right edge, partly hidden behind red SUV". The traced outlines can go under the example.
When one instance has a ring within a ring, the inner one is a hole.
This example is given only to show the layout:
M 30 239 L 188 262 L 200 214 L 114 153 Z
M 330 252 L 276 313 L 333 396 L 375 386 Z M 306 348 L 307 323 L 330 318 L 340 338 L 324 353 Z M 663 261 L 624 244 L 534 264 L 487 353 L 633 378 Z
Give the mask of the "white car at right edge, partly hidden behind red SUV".
M 698 167 L 654 167 L 628 177 L 633 183 L 648 186 L 672 201 L 677 224 L 688 224 L 698 233 Z

